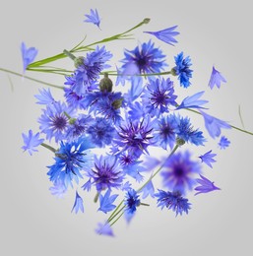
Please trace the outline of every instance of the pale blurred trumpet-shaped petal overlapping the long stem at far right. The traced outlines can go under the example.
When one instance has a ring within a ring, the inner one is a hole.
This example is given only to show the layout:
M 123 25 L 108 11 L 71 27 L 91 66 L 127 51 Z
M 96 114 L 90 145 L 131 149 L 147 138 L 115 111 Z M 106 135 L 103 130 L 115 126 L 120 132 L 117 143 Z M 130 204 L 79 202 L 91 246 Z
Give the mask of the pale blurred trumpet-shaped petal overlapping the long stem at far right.
M 200 111 L 205 120 L 205 126 L 210 136 L 215 139 L 221 135 L 221 128 L 229 129 L 231 126 L 225 121 L 218 119 L 212 115 L 209 115 L 203 111 Z

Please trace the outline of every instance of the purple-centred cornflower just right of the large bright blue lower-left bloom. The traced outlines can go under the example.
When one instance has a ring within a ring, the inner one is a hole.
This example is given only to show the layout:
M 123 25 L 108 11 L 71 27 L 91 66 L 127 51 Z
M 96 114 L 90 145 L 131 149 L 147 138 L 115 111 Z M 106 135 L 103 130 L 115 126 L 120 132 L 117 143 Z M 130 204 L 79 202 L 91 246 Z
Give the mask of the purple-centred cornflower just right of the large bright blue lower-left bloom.
M 95 156 L 95 167 L 90 171 L 98 192 L 122 185 L 124 174 L 117 158 L 112 156 Z

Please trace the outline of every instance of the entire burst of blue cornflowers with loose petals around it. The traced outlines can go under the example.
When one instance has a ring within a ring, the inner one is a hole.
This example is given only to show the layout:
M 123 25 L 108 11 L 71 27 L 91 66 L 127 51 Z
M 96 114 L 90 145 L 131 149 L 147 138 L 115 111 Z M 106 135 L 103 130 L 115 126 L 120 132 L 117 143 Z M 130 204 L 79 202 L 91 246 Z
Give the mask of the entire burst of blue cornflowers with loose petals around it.
M 100 29 L 97 10 L 86 18 L 85 22 Z M 148 22 L 145 19 L 142 24 Z M 174 45 L 176 29 L 146 33 Z M 217 154 L 207 149 L 195 157 L 186 146 L 205 149 L 209 136 L 219 138 L 220 148 L 225 149 L 229 141 L 221 129 L 231 126 L 207 113 L 203 105 L 208 100 L 201 99 L 204 91 L 178 101 L 177 88 L 191 86 L 191 59 L 179 52 L 168 69 L 167 56 L 153 38 L 124 50 L 116 71 L 109 70 L 113 54 L 105 45 L 90 47 L 81 57 L 75 55 L 75 48 L 64 50 L 63 56 L 74 61 L 75 69 L 65 75 L 63 98 L 56 99 L 49 89 L 39 90 L 35 96 L 42 105 L 39 131 L 23 134 L 23 150 L 30 155 L 38 146 L 52 152 L 52 164 L 47 166 L 50 192 L 63 197 L 74 189 L 72 211 L 84 212 L 89 193 L 95 191 L 97 210 L 109 213 L 98 224 L 97 233 L 114 235 L 112 224 L 120 216 L 129 223 L 148 199 L 177 216 L 191 209 L 191 192 L 220 189 L 203 174 L 204 165 L 212 168 Z M 36 54 L 35 48 L 22 44 L 24 71 L 32 70 Z M 210 89 L 225 82 L 213 67 Z M 122 92 L 123 87 L 127 92 Z M 182 114 L 187 111 L 203 119 L 205 131 Z M 158 154 L 150 156 L 154 149 Z

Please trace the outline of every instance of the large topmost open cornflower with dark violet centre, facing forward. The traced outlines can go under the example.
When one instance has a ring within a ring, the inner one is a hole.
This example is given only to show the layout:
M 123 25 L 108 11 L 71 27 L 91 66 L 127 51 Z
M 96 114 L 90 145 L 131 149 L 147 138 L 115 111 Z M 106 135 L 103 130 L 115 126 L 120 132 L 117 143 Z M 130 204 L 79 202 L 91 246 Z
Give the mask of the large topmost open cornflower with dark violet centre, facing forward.
M 164 62 L 165 55 L 162 54 L 160 49 L 154 47 L 154 43 L 151 40 L 148 43 L 143 43 L 141 47 L 137 46 L 132 51 L 125 50 L 124 54 L 125 59 L 122 60 L 124 63 L 123 70 L 129 69 L 130 65 L 137 66 L 139 74 L 159 73 L 166 66 Z M 130 75 L 133 74 L 131 73 Z

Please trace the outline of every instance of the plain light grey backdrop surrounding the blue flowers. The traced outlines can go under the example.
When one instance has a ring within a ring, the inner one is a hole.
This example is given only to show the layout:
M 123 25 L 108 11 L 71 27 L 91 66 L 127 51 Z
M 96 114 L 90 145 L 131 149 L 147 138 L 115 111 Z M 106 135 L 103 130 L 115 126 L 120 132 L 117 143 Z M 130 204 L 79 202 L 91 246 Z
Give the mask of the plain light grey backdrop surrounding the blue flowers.
M 91 8 L 99 12 L 101 31 L 83 23 Z M 39 49 L 37 59 L 41 59 L 71 48 L 85 34 L 87 42 L 92 42 L 149 17 L 147 28 L 136 32 L 137 40 L 107 45 L 114 59 L 122 58 L 124 47 L 132 49 L 147 41 L 149 36 L 142 31 L 178 25 L 175 47 L 154 40 L 166 51 L 170 63 L 181 50 L 192 58 L 193 86 L 187 92 L 181 90 L 180 96 L 207 90 L 210 113 L 235 126 L 241 126 L 240 105 L 244 125 L 253 131 L 251 12 L 248 0 L 1 0 L 0 66 L 22 71 L 19 47 L 23 40 Z M 220 91 L 207 87 L 213 64 L 227 79 Z M 62 77 L 27 75 L 58 85 L 64 82 Z M 217 141 L 209 142 L 219 156 L 214 169 L 207 167 L 205 173 L 221 191 L 192 197 L 188 216 L 174 218 L 153 202 L 149 209 L 140 209 L 132 224 L 118 222 L 115 238 L 98 236 L 94 228 L 103 216 L 96 213 L 92 199 L 87 198 L 84 215 L 71 214 L 73 194 L 57 200 L 48 191 L 50 153 L 42 149 L 31 158 L 21 150 L 21 133 L 38 128 L 40 109 L 33 95 L 41 86 L 10 78 L 13 86 L 7 75 L 0 73 L 0 255 L 252 255 L 251 136 L 225 131 L 231 141 L 226 151 L 219 151 Z M 61 96 L 60 91 L 52 92 Z M 199 119 L 196 122 L 202 127 Z

